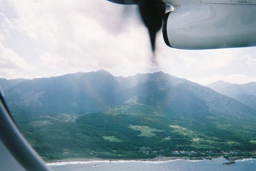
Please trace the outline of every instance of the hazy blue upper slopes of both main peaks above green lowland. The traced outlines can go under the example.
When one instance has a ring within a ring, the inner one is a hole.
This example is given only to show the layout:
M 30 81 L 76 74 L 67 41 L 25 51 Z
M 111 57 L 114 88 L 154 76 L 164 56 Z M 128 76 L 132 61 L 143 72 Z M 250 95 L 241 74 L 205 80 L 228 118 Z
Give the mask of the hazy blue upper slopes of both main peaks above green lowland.
M 114 77 L 99 70 L 26 80 L 6 90 L 9 105 L 28 114 L 106 112 L 120 105 L 127 108 L 127 101 L 135 96 L 137 101 L 128 105 L 128 113 L 136 113 L 138 105 L 144 105 L 145 113 L 157 112 L 173 118 L 256 116 L 255 110 L 235 99 L 163 72 Z

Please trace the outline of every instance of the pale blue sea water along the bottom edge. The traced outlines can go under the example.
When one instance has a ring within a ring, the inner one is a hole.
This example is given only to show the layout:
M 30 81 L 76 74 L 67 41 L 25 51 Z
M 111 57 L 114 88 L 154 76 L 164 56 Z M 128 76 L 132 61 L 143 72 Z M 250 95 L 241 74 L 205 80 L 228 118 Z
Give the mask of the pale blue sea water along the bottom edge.
M 157 162 L 145 161 L 84 161 L 48 164 L 55 171 L 256 171 L 255 159 L 238 160 L 236 164 L 224 165 L 228 160 L 189 161 L 184 159 Z

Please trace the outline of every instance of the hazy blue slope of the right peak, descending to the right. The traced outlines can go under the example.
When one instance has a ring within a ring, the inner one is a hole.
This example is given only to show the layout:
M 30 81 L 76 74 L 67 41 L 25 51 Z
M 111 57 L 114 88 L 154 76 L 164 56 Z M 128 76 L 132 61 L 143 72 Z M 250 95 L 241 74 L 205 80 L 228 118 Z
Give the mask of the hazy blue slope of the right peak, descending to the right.
M 121 97 L 130 99 L 139 96 L 147 100 L 147 105 L 155 105 L 164 113 L 173 112 L 178 116 L 186 116 L 187 113 L 193 117 L 204 113 L 205 116 L 255 118 L 252 108 L 186 79 L 163 72 L 137 74 L 128 79 L 132 82 L 128 87 L 133 87 L 122 91 Z M 126 80 L 122 78 L 122 81 Z

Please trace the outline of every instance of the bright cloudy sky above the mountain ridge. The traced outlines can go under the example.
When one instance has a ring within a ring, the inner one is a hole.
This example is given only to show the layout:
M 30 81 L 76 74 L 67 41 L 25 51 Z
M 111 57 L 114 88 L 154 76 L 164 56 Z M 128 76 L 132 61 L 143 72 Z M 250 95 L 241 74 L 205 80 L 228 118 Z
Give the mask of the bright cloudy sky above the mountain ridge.
M 256 81 L 256 47 L 178 50 L 156 39 L 155 61 L 137 6 L 106 0 L 0 0 L 0 78 L 105 69 L 163 71 L 201 85 Z

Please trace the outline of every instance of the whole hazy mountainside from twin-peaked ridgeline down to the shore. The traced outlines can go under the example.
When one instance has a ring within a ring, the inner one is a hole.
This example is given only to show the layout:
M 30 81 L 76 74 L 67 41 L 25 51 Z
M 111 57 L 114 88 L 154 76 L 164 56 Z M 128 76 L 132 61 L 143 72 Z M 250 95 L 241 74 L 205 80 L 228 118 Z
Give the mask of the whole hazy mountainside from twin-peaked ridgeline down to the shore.
M 115 77 L 98 70 L 0 85 L 20 130 L 45 160 L 148 158 L 173 150 L 202 156 L 256 146 L 256 110 L 216 92 L 217 84 L 212 90 L 163 72 Z

